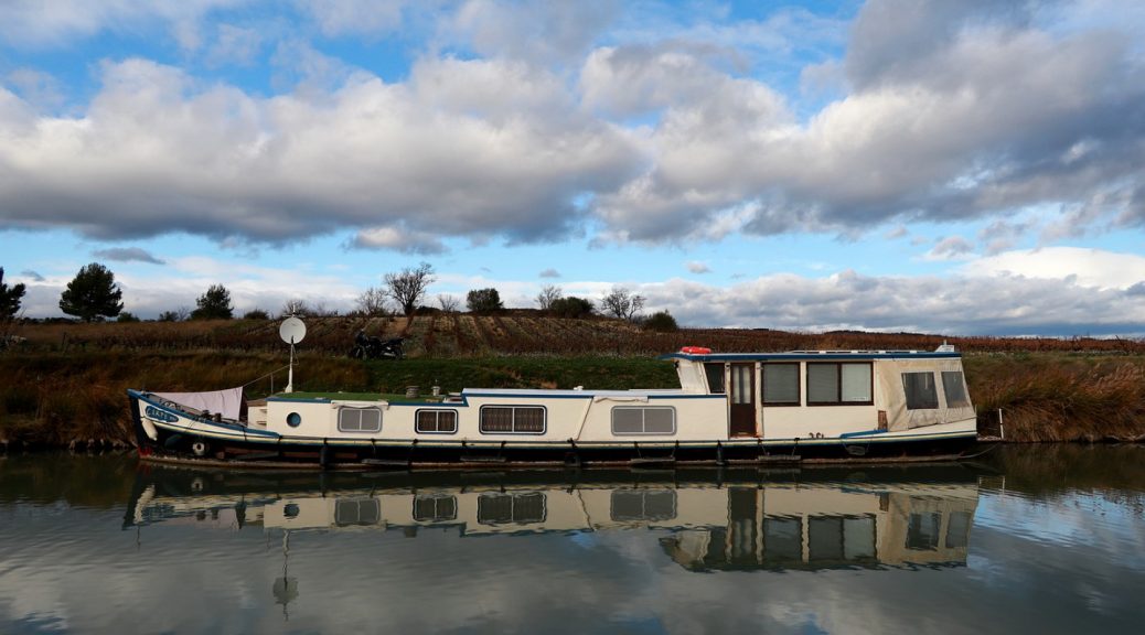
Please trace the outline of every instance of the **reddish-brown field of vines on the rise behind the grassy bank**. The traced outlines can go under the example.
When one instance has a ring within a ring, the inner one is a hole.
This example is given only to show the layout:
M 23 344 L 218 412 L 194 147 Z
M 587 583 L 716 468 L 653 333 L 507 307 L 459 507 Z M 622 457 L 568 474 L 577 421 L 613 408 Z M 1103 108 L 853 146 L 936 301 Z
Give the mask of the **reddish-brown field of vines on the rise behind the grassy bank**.
M 498 355 L 654 356 L 685 346 L 716 352 L 787 350 L 933 350 L 943 342 L 964 352 L 1143 354 L 1145 341 L 1093 338 L 962 338 L 917 333 L 799 333 L 767 328 L 681 328 L 655 333 L 622 320 L 562 319 L 518 310 L 495 316 L 431 313 L 406 317 L 308 318 L 300 351 L 345 356 L 354 335 L 405 338 L 408 357 L 456 358 Z M 24 324 L 22 348 L 68 350 L 278 351 L 278 323 L 218 320 L 133 324 Z

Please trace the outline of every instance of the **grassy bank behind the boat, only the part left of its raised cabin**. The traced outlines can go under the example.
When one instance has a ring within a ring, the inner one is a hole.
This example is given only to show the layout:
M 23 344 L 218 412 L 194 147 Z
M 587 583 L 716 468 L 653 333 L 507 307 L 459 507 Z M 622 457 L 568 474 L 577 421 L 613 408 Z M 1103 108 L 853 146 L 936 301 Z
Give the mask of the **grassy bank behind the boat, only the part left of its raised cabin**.
M 271 373 L 271 371 L 274 371 Z M 216 390 L 247 384 L 248 398 L 286 384 L 282 355 L 252 352 L 50 351 L 0 356 L 0 443 L 86 444 L 128 442 L 126 390 Z M 299 357 L 297 390 L 443 391 L 483 388 L 671 388 L 671 364 L 647 357 L 492 357 L 358 362 L 321 355 Z

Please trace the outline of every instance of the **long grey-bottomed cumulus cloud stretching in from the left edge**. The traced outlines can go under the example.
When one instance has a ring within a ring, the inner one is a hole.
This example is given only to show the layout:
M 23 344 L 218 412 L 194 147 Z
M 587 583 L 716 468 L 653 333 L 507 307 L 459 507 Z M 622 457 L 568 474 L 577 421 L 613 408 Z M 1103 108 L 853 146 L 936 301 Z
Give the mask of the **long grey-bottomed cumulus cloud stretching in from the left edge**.
M 315 98 L 105 63 L 82 118 L 30 117 L 0 90 L 0 130 L 16 141 L 0 148 L 11 166 L 0 217 L 96 238 L 286 241 L 402 225 L 552 239 L 575 227 L 574 199 L 618 185 L 635 156 L 626 134 L 566 97 L 545 71 L 483 61 L 421 65 L 406 86 L 354 74 Z

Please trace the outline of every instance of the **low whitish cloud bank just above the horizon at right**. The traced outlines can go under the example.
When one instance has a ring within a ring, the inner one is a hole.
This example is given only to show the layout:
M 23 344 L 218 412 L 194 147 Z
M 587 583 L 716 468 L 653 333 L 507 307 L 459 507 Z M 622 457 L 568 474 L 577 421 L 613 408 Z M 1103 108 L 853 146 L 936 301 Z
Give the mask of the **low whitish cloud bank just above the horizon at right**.
M 998 335 L 1145 333 L 1145 296 L 1021 275 L 764 276 L 732 287 L 672 279 L 633 289 L 681 324 Z M 871 301 L 877 299 L 877 301 Z

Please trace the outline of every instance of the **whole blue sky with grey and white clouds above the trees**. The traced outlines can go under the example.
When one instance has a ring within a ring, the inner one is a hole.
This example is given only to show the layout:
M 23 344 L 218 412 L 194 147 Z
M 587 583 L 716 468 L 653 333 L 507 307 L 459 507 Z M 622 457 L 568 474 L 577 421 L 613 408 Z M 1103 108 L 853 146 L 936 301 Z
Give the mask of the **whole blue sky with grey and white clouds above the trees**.
M 0 267 L 1145 336 L 1145 3 L 0 0 Z

